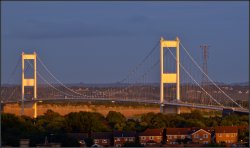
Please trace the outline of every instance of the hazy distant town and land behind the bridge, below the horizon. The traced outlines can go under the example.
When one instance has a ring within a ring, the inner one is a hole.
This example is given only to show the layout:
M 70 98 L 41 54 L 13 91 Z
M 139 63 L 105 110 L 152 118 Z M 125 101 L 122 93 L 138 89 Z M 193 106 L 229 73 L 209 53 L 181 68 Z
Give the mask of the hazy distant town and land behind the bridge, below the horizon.
M 56 84 L 55 84 L 56 85 Z M 131 85 L 131 84 L 130 84 Z M 132 87 L 129 87 L 126 91 L 121 91 L 123 88 L 129 86 L 129 84 L 68 84 L 67 86 L 72 89 L 74 92 L 79 94 L 85 94 L 86 97 L 92 95 L 95 98 L 101 97 L 108 97 L 108 98 L 135 98 L 140 97 L 142 98 L 142 94 L 146 97 L 151 96 L 152 99 L 159 98 L 159 84 L 135 84 Z M 190 84 L 189 84 L 190 85 Z M 218 84 L 219 87 L 228 95 L 230 95 L 234 100 L 241 104 L 243 107 L 248 108 L 248 99 L 249 99 L 249 86 L 247 83 L 236 83 L 236 84 Z M 67 89 L 63 87 L 57 87 L 58 89 L 68 92 Z M 2 94 L 3 98 L 7 98 L 8 101 L 11 99 L 16 100 L 16 98 L 21 98 L 21 88 L 18 85 L 3 85 L 2 89 L 5 92 Z M 56 91 L 55 89 L 51 89 L 47 85 L 38 85 L 38 96 L 39 98 L 65 98 L 67 96 L 63 95 L 62 93 Z M 175 91 L 175 87 L 167 87 L 170 91 Z M 204 95 L 198 89 L 198 86 L 192 86 L 188 88 L 186 91 L 185 84 L 181 86 L 181 96 L 186 96 L 183 98 L 182 101 L 190 101 L 190 102 L 197 102 L 197 95 Z M 221 99 L 225 99 L 225 95 L 222 94 L 221 91 L 216 89 L 212 85 L 208 85 L 206 87 L 207 92 L 209 92 L 212 96 L 216 96 Z M 27 88 L 26 89 L 25 98 L 27 100 L 31 100 L 33 97 L 33 89 Z M 168 92 L 169 93 L 169 92 Z M 115 94 L 110 96 L 110 94 Z M 10 97 L 11 96 L 11 97 Z M 84 97 L 84 96 L 80 96 Z M 204 97 L 207 97 L 204 95 Z M 194 98 L 192 100 L 192 98 Z M 174 100 L 174 98 L 166 98 L 166 100 Z M 3 99 L 4 100 L 4 99 Z

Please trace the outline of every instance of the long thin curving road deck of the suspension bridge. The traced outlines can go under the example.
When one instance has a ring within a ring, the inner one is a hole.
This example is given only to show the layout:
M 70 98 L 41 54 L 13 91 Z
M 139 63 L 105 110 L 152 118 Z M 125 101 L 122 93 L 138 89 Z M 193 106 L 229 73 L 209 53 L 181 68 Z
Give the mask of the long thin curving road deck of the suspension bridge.
M 112 102 L 137 102 L 137 103 L 146 103 L 146 104 L 161 104 L 160 101 L 156 100 L 149 100 L 149 99 L 112 99 L 112 98 L 47 98 L 47 99 L 36 99 L 36 100 L 24 100 L 24 102 L 55 102 L 55 101 L 112 101 Z M 18 101 L 7 101 L 4 102 L 1 101 L 1 104 L 10 104 L 10 103 L 21 103 L 21 100 Z M 170 106 L 180 106 L 180 107 L 191 107 L 191 108 L 201 108 L 201 109 L 210 109 L 210 110 L 219 110 L 223 111 L 223 109 L 230 109 L 235 112 L 241 112 L 241 113 L 248 113 L 248 109 L 242 109 L 239 107 L 223 107 L 223 106 L 214 106 L 214 105 L 204 105 L 204 104 L 194 104 L 194 103 L 188 103 L 188 102 L 182 102 L 182 101 L 173 101 L 173 102 L 167 102 L 164 101 L 162 104 L 164 105 L 170 105 Z

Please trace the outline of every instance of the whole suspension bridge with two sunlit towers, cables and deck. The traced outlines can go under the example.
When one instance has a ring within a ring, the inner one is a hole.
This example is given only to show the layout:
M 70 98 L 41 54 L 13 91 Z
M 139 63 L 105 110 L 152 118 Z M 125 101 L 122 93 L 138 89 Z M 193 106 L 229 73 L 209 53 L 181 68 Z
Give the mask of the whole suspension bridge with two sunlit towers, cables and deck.
M 1 104 L 20 103 L 23 113 L 24 104 L 31 103 L 34 118 L 37 117 L 37 102 L 44 101 L 139 102 L 159 104 L 161 112 L 178 114 L 180 107 L 249 113 L 240 99 L 231 97 L 230 91 L 224 90 L 203 71 L 178 37 L 175 40 L 161 38 L 140 63 L 113 85 L 70 86 L 49 69 L 36 52 L 22 53 L 8 79 L 8 83 L 17 79 L 21 87 L 2 87 Z M 202 83 L 202 76 L 209 83 Z M 156 77 L 159 82 L 153 82 L 152 78 Z

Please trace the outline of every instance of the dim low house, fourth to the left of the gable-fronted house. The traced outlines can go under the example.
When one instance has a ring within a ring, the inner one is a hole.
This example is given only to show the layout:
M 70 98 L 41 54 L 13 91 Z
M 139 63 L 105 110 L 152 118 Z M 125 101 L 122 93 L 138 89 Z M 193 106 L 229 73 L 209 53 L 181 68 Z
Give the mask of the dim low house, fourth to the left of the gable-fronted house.
M 110 147 L 112 146 L 112 132 L 93 132 L 91 133 L 91 137 L 94 140 L 95 145 L 99 145 L 101 147 Z

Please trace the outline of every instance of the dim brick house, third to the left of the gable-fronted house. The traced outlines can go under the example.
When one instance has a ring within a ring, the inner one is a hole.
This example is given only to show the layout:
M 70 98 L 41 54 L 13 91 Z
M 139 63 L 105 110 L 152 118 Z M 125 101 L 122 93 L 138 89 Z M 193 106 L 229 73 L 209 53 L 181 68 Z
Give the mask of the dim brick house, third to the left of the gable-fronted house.
M 114 131 L 114 146 L 121 147 L 125 142 L 135 142 L 136 132 Z

